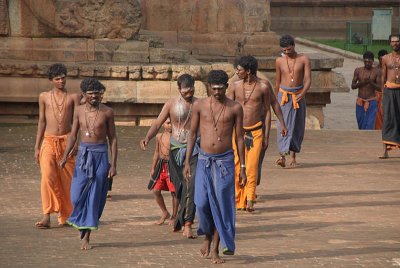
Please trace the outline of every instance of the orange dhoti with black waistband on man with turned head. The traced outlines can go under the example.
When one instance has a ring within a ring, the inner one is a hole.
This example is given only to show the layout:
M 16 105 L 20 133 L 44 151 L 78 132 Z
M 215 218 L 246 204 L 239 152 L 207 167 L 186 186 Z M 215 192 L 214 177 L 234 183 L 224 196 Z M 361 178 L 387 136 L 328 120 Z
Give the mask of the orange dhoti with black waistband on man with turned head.
M 263 140 L 263 123 L 260 121 L 250 127 L 243 127 L 245 143 L 245 161 L 247 184 L 244 188 L 239 186 L 240 163 L 237 153 L 235 138 L 233 139 L 233 149 L 235 151 L 235 196 L 236 209 L 245 209 L 247 201 L 256 201 L 256 186 L 258 176 L 259 159 Z

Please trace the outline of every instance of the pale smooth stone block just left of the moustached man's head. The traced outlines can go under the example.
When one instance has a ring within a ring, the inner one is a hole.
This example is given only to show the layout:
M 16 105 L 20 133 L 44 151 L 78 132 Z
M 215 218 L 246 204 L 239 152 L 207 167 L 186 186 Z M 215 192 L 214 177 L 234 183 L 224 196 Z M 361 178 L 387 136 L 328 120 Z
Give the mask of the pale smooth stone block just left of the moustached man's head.
M 165 103 L 171 97 L 170 81 L 137 81 L 138 103 Z

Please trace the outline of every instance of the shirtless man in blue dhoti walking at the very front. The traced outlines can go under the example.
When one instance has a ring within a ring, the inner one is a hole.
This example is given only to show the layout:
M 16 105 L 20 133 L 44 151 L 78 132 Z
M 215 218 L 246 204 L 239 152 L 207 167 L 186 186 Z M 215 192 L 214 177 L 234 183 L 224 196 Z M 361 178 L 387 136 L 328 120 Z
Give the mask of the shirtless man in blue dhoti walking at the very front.
M 184 174 L 195 181 L 195 203 L 199 226 L 198 235 L 205 235 L 200 250 L 203 257 L 210 254 L 214 264 L 223 263 L 219 257 L 219 242 L 222 252 L 235 252 L 235 178 L 232 135 L 235 131 L 240 160 L 240 187 L 246 185 L 246 165 L 243 142 L 243 109 L 241 105 L 225 96 L 228 75 L 213 70 L 208 75 L 210 97 L 198 100 L 193 105 L 191 129 L 188 137 Z M 190 157 L 200 130 L 200 153 L 197 170 L 191 168 Z

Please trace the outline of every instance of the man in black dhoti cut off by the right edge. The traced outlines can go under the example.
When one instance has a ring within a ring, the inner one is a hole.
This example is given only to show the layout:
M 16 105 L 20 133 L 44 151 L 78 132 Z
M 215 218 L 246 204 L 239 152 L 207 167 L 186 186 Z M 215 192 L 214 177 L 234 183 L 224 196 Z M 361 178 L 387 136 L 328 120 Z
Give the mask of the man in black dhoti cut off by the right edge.
M 382 159 L 389 157 L 388 150 L 400 148 L 400 34 L 390 35 L 389 44 L 392 52 L 382 58 Z

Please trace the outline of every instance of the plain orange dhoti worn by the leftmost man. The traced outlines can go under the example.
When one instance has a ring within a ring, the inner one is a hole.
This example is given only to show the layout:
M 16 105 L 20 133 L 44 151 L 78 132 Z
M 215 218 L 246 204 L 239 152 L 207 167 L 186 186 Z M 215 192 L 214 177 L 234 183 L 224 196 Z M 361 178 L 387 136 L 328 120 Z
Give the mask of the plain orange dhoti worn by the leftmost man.
M 60 224 L 64 224 L 72 212 L 70 190 L 75 159 L 70 156 L 64 168 L 58 166 L 64 155 L 67 137 L 45 134 L 40 149 L 43 214 L 59 213 Z

